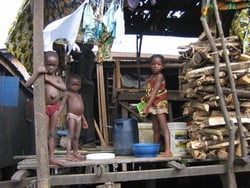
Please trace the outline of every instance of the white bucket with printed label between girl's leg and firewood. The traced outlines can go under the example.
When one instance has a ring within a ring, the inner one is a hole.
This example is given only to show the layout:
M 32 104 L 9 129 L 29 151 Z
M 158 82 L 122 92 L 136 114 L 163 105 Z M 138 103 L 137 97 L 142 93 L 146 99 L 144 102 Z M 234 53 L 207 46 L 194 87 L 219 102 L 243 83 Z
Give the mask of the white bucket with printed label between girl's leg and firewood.
M 174 156 L 186 154 L 187 127 L 185 122 L 169 122 L 170 147 Z

